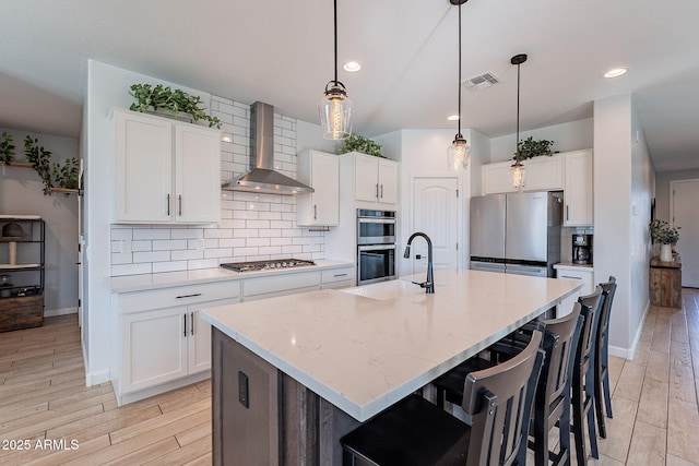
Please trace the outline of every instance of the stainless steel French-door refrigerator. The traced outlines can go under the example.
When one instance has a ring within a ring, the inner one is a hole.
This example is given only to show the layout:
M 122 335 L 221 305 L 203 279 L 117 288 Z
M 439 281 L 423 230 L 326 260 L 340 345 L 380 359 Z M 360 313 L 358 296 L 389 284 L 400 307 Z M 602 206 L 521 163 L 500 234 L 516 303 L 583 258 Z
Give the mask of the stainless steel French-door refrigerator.
M 561 211 L 559 192 L 471 198 L 471 268 L 554 276 Z

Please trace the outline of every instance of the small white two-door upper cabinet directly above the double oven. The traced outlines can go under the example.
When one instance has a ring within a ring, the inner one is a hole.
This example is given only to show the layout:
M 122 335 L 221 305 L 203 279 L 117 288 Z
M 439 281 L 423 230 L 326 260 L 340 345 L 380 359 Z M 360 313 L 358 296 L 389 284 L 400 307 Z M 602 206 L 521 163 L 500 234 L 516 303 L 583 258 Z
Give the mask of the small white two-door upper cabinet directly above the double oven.
M 356 201 L 398 204 L 396 162 L 358 152 L 345 157 L 354 163 Z

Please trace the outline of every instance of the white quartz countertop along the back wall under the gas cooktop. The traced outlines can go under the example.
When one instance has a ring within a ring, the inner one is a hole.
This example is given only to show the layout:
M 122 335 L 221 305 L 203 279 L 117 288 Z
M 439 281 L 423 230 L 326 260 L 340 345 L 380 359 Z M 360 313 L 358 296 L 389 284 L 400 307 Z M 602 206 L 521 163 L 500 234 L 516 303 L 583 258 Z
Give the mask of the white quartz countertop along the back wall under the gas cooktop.
M 304 272 L 322 271 L 325 268 L 337 268 L 343 266 L 354 266 L 354 263 L 346 261 L 317 260 L 316 265 L 294 268 L 280 268 L 273 271 L 256 272 L 233 272 L 225 268 L 201 268 L 197 271 L 163 272 L 159 274 L 123 275 L 118 277 L 106 277 L 110 292 L 144 291 L 149 289 L 170 288 L 182 285 L 196 285 L 211 282 L 237 280 L 253 278 L 259 276 L 285 275 Z

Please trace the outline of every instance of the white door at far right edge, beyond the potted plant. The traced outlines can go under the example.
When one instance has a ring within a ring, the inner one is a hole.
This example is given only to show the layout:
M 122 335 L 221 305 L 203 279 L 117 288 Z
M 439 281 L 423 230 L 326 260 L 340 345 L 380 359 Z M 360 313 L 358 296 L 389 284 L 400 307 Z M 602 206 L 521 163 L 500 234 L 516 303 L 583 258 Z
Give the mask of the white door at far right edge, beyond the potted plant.
M 682 286 L 699 288 L 699 180 L 670 182 L 672 225 L 682 227 L 677 252 L 682 258 Z

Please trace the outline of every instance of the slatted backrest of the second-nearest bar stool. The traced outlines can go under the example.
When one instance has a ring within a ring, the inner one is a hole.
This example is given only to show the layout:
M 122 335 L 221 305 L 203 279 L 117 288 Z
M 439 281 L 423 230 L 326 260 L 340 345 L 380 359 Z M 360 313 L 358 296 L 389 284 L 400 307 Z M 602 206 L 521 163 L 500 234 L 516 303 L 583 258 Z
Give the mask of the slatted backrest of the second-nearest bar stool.
M 570 390 L 578 339 L 584 318 L 580 315 L 581 304 L 576 302 L 572 312 L 559 319 L 543 321 L 546 326 L 542 347 L 546 354 L 542 368 L 542 380 L 537 397 L 542 403 L 549 403 L 558 398 L 566 390 Z M 536 403 L 540 405 L 540 403 Z

